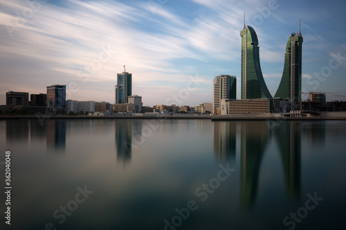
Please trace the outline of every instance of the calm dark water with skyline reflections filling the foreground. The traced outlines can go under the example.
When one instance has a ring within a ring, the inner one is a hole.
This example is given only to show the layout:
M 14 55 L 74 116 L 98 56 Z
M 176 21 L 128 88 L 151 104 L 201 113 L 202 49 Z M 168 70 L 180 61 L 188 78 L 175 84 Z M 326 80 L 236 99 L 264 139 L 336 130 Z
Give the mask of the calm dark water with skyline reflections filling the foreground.
M 0 141 L 11 229 L 345 225 L 345 121 L 0 121 Z

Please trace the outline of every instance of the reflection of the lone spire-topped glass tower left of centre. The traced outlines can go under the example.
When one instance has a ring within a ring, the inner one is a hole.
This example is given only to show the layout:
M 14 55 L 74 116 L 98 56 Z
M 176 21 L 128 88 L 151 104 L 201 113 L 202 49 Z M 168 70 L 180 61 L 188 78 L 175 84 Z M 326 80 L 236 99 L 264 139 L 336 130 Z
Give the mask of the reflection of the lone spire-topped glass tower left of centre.
M 142 122 L 137 119 L 116 121 L 116 152 L 118 163 L 122 162 L 126 164 L 131 160 L 132 149 L 135 146 L 133 139 L 140 140 L 142 138 Z M 138 145 L 136 145 L 136 148 L 138 148 Z

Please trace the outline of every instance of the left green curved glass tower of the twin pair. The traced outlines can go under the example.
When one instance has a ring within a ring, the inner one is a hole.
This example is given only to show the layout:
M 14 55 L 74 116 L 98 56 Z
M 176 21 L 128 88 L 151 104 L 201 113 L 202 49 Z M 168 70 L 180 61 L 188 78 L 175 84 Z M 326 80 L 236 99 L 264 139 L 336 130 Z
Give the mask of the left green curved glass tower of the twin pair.
M 244 24 L 242 37 L 242 100 L 273 98 L 266 87 L 260 64 L 260 46 L 255 30 Z

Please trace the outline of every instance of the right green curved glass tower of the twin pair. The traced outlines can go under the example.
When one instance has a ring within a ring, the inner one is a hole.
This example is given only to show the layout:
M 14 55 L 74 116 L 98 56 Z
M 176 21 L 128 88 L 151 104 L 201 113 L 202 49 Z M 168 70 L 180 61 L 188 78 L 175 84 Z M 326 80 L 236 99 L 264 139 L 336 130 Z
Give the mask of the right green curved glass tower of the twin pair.
M 284 72 L 275 98 L 284 98 L 291 102 L 302 100 L 302 42 L 300 29 L 297 35 L 292 33 L 289 36 L 284 54 Z

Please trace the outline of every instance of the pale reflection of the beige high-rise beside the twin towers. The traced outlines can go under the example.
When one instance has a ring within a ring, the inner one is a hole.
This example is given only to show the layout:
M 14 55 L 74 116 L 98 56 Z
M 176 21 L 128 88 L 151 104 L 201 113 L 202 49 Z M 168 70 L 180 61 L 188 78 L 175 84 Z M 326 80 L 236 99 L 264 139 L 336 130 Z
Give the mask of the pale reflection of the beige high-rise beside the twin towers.
M 212 123 L 212 146 L 219 161 L 235 161 L 236 124 L 223 121 Z

